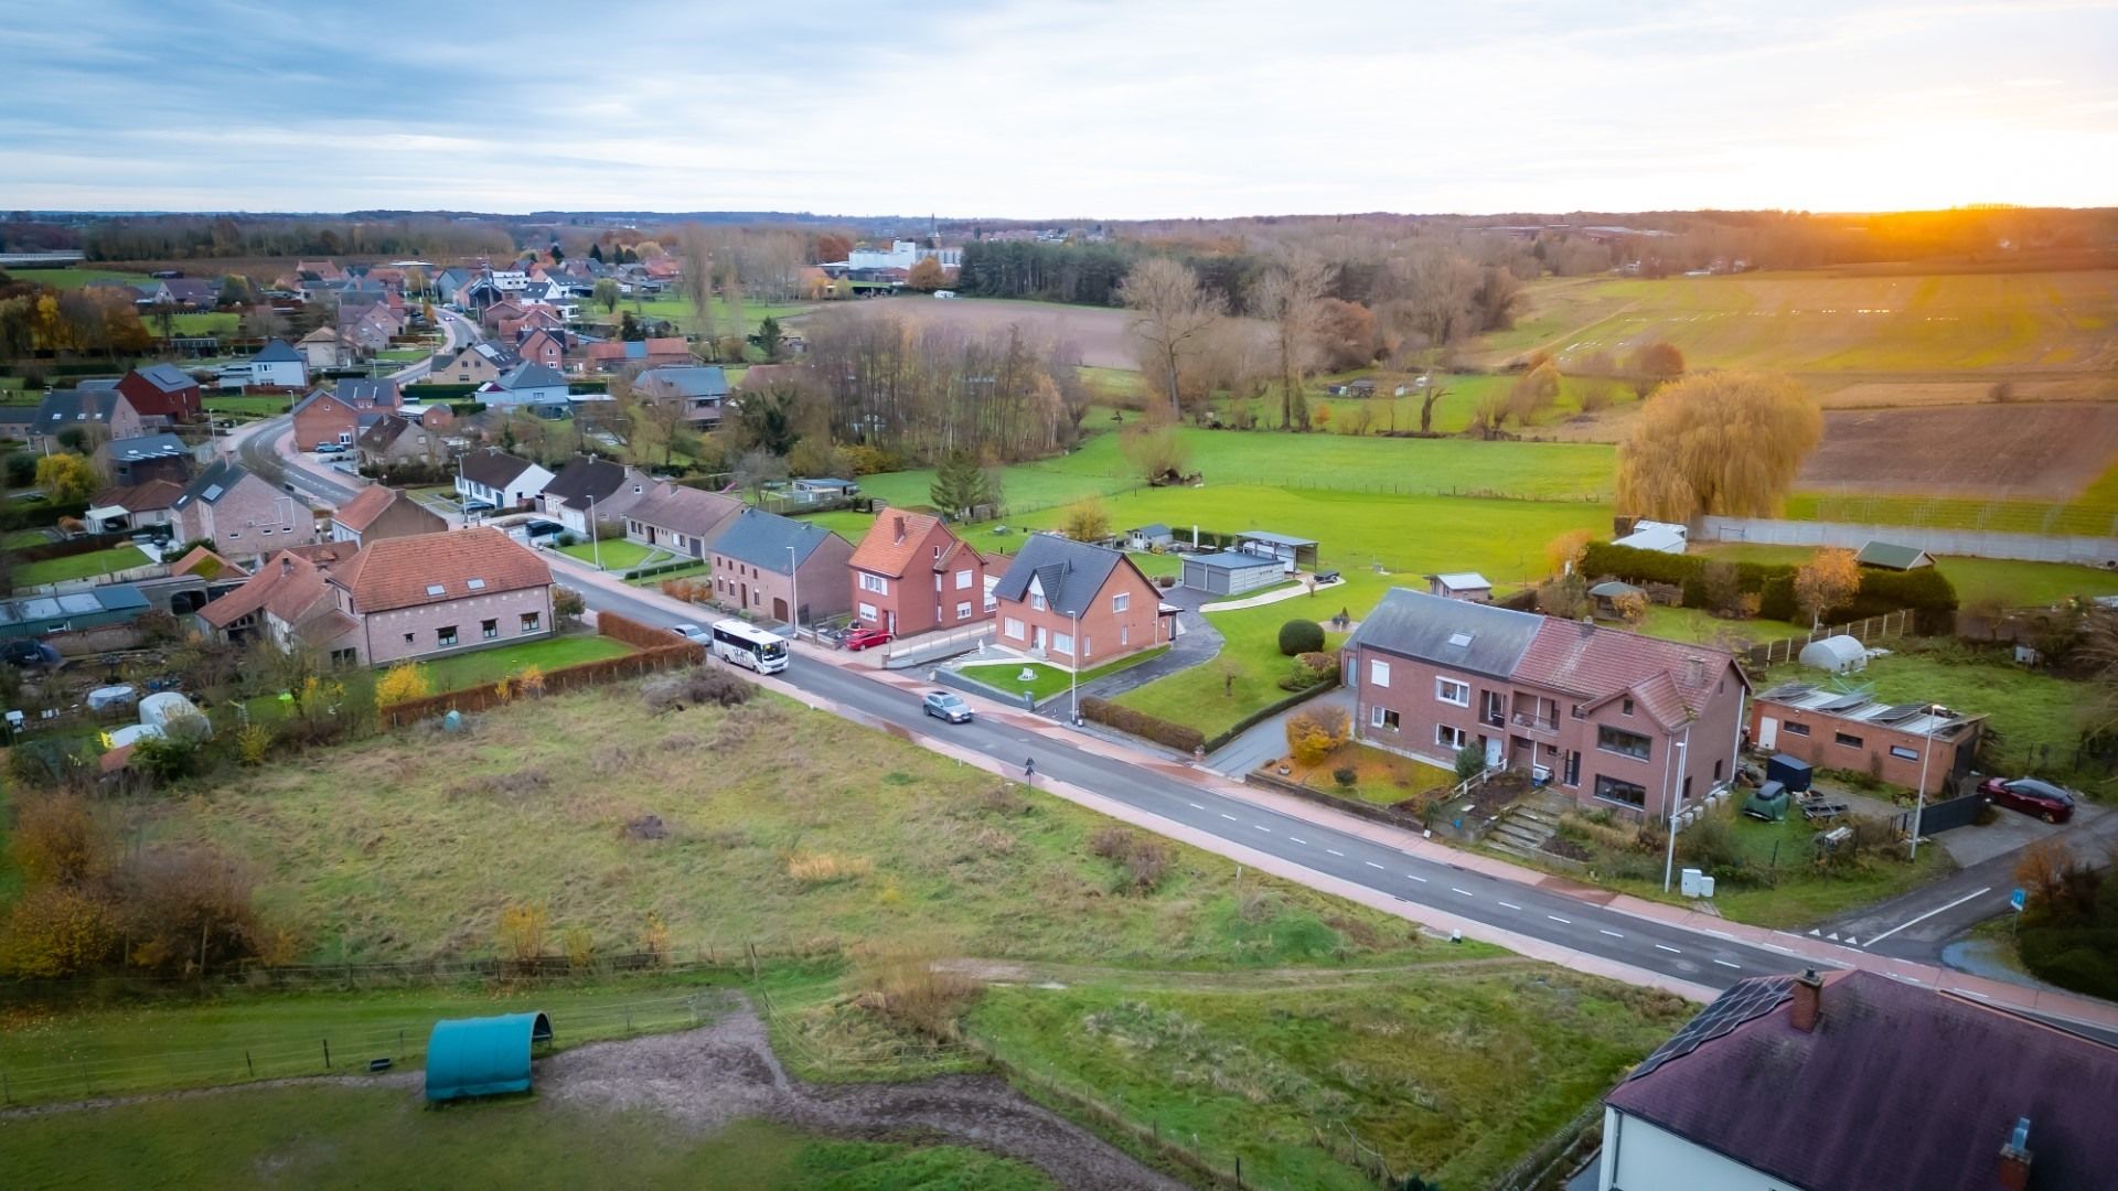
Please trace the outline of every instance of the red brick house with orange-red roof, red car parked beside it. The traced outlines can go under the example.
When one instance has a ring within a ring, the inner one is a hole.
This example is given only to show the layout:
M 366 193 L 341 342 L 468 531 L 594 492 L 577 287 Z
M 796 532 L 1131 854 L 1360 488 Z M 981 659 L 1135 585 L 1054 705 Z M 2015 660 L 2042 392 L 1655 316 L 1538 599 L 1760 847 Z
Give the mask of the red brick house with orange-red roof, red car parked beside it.
M 862 625 L 915 636 L 993 619 L 985 555 L 940 517 L 883 509 L 854 547 L 847 570 L 854 619 Z

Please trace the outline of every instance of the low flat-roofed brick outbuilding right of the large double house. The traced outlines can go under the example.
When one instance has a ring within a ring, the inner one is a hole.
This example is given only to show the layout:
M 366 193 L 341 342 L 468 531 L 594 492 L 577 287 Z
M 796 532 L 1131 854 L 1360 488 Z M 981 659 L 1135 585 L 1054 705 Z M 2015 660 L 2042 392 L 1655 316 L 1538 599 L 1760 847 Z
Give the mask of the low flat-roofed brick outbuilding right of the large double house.
M 1893 786 L 1934 795 L 1968 774 L 1985 716 L 1940 704 L 1885 704 L 1874 695 L 1785 682 L 1749 708 L 1749 740 L 1817 769 L 1855 769 Z M 1925 778 L 1921 778 L 1925 776 Z

